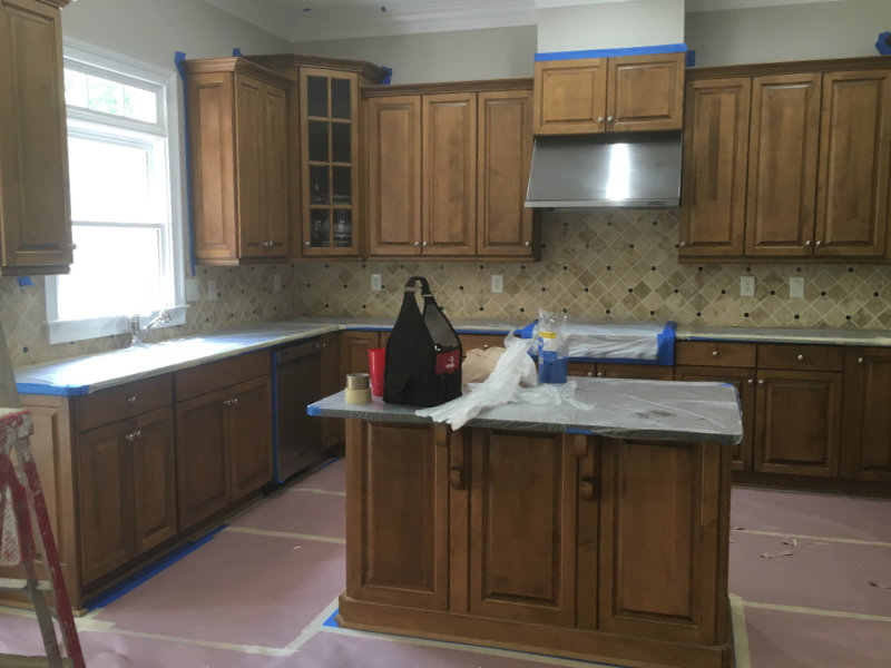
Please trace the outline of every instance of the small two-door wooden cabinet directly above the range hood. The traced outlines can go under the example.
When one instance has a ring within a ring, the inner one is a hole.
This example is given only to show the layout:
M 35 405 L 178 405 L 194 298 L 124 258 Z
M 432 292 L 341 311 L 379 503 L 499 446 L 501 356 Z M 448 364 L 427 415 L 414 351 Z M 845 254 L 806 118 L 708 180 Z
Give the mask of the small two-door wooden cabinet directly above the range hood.
M 679 130 L 685 53 L 535 65 L 535 134 Z

